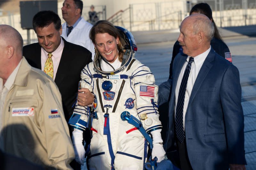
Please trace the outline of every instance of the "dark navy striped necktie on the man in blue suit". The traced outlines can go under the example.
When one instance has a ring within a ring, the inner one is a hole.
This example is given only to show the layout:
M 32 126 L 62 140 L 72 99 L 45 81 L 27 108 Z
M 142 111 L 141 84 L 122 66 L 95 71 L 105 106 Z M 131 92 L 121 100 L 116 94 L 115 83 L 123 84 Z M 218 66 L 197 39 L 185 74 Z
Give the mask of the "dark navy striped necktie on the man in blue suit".
M 180 84 L 180 90 L 178 95 L 178 101 L 176 106 L 176 115 L 175 115 L 175 127 L 176 127 L 176 136 L 180 143 L 184 141 L 185 133 L 184 133 L 184 126 L 183 126 L 183 107 L 184 107 L 184 100 L 185 100 L 185 93 L 188 83 L 188 76 L 191 69 L 191 63 L 194 62 L 193 57 L 189 57 L 188 65 L 184 72 L 183 78 Z

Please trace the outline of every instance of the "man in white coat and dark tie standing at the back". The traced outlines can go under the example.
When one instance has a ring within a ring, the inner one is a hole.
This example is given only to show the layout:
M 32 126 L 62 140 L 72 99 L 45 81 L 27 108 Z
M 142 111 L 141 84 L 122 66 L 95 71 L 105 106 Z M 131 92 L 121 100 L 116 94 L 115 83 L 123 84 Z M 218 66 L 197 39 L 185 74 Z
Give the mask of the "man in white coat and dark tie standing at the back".
M 94 58 L 94 45 L 89 37 L 92 24 L 82 17 L 83 1 L 65 0 L 61 8 L 62 18 L 66 21 L 62 24 L 61 36 L 68 42 L 83 46 L 92 53 Z

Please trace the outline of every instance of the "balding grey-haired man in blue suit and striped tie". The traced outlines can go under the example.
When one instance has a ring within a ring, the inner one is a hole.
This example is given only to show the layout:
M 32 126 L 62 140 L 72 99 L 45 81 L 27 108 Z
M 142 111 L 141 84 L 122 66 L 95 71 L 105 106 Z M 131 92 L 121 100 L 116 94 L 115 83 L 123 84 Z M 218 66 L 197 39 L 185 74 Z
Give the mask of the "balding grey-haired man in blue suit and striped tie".
M 159 86 L 158 104 L 169 100 L 165 149 L 177 144 L 181 169 L 245 169 L 244 115 L 237 68 L 214 52 L 209 18 L 185 18 L 178 41 L 184 55 L 172 78 Z

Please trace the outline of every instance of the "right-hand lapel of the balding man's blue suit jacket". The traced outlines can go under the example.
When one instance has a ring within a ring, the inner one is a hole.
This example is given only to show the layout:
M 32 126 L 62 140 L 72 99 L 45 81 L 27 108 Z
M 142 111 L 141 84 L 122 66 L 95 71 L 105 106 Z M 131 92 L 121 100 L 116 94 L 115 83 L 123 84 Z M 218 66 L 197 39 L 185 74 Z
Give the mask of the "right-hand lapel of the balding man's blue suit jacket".
M 209 52 L 209 54 L 207 55 L 207 57 L 204 60 L 204 63 L 197 75 L 195 84 L 193 86 L 190 98 L 189 98 L 189 102 L 188 102 L 188 107 L 190 105 L 190 103 L 193 101 L 199 87 L 201 86 L 201 84 L 203 83 L 206 75 L 208 74 L 209 70 L 212 68 L 212 61 L 214 60 L 215 57 L 215 52 L 214 50 L 211 48 L 211 51 Z

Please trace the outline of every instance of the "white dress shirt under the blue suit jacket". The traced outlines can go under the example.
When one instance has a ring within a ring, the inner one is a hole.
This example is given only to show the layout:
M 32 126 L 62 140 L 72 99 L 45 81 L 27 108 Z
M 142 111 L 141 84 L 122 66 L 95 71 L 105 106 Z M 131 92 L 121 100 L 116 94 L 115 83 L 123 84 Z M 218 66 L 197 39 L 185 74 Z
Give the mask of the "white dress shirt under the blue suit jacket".
M 211 46 L 208 50 L 206 50 L 204 53 L 197 55 L 194 57 L 194 62 L 191 63 L 191 69 L 190 69 L 190 73 L 189 73 L 189 77 L 188 77 L 188 84 L 187 84 L 187 88 L 186 88 L 186 92 L 185 92 L 185 100 L 184 100 L 184 107 L 183 107 L 183 128 L 185 129 L 185 115 L 187 112 L 187 108 L 188 108 L 188 102 L 189 102 L 189 98 L 193 89 L 193 86 L 195 84 L 197 75 L 204 63 L 205 58 L 207 57 L 207 55 L 209 54 L 211 50 Z M 187 57 L 186 62 L 184 63 L 181 71 L 180 71 L 180 75 L 177 81 L 177 85 L 175 88 L 175 115 L 176 115 L 176 106 L 177 106 L 177 101 L 178 101 L 178 95 L 179 95 L 179 91 L 180 91 L 180 84 L 183 78 L 183 74 L 186 70 L 186 67 L 188 65 L 188 60 L 189 57 Z

